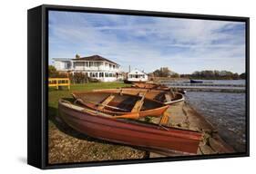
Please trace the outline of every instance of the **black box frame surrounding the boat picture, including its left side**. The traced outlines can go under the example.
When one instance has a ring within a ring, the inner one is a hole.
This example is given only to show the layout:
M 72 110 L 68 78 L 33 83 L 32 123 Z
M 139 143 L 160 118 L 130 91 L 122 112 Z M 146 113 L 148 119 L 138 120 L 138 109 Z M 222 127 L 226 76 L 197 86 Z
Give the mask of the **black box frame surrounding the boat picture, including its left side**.
M 237 21 L 246 24 L 246 152 L 148 160 L 111 160 L 50 165 L 47 163 L 47 64 L 48 11 L 88 12 L 97 14 L 132 14 L 187 19 Z M 27 11 L 27 163 L 39 169 L 74 168 L 120 165 L 146 162 L 206 160 L 250 156 L 250 18 L 209 14 L 179 14 L 123 9 L 94 8 L 64 5 L 40 5 Z

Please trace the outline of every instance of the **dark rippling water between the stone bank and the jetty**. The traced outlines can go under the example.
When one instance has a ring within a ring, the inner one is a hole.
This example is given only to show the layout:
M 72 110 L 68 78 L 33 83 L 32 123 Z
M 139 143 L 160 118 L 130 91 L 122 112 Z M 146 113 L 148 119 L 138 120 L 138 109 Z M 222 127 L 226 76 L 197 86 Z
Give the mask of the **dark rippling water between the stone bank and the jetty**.
M 187 101 L 236 151 L 245 151 L 245 93 L 187 92 Z

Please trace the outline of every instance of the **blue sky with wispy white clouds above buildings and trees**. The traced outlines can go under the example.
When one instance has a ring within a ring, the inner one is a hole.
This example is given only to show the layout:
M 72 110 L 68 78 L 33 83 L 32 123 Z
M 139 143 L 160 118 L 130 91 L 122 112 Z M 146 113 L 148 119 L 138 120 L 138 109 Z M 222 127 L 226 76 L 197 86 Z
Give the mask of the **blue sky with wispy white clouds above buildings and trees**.
M 245 72 L 245 23 L 49 12 L 49 62 L 98 54 L 131 69 Z

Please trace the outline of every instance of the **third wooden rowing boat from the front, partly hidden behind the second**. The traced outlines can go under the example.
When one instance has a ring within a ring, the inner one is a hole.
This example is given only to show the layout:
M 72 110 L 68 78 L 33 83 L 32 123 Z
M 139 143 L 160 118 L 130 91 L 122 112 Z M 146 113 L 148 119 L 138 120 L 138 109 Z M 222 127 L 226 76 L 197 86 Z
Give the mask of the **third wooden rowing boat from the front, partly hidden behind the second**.
M 147 99 L 161 102 L 165 105 L 170 105 L 176 102 L 183 102 L 184 95 L 179 92 L 166 92 L 160 90 L 148 90 L 141 88 L 120 88 L 120 89 L 104 89 L 104 90 L 94 90 L 94 92 L 110 92 L 110 93 L 120 93 L 143 96 Z

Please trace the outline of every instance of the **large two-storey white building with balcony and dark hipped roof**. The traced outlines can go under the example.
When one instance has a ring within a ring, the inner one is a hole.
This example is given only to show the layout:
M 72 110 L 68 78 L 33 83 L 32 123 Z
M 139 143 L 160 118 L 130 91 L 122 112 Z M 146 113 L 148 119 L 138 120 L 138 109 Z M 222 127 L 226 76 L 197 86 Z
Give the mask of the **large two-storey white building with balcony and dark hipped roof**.
M 54 58 L 54 66 L 59 72 L 85 73 L 87 77 L 101 82 L 114 82 L 120 77 L 119 65 L 99 55 L 80 57 L 76 59 Z

